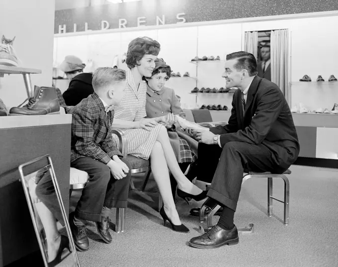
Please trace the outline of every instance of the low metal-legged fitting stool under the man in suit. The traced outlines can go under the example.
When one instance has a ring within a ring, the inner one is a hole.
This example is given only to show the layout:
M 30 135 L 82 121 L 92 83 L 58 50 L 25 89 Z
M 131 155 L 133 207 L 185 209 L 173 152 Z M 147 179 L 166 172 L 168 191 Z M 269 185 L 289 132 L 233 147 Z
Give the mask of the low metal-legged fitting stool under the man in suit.
M 277 200 L 281 203 L 284 203 L 284 225 L 289 224 L 289 197 L 290 197 L 290 185 L 289 185 L 289 179 L 285 175 L 290 175 L 291 171 L 288 169 L 283 174 L 272 174 L 270 172 L 265 173 L 256 173 L 256 172 L 246 172 L 243 174 L 243 183 L 248 180 L 249 178 L 267 178 L 267 215 L 269 217 L 272 216 L 272 199 Z M 272 196 L 273 194 L 273 186 L 272 186 L 272 178 L 282 178 L 284 180 L 284 201 L 277 199 Z M 205 209 L 209 208 L 205 205 L 205 203 L 201 206 L 201 209 L 199 211 L 199 218 L 200 222 L 204 222 L 204 214 Z M 221 208 L 220 205 L 217 205 L 216 207 L 213 207 L 209 214 L 207 215 L 207 227 L 212 227 L 213 224 L 213 216 L 214 214 Z M 252 224 L 250 224 L 252 225 Z

